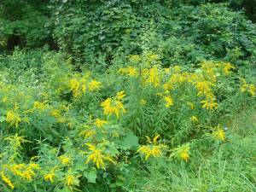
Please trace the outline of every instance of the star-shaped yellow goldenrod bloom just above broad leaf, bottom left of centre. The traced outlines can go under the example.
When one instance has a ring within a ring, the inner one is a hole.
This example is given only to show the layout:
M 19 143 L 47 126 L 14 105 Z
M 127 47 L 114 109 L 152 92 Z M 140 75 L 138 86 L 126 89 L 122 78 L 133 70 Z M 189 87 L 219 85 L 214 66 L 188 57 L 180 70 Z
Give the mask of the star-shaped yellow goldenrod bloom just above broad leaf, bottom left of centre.
M 86 145 L 89 147 L 90 153 L 85 161 L 85 164 L 92 161 L 98 169 L 102 168 L 105 170 L 104 160 L 114 163 L 113 157 L 111 157 L 109 154 L 104 154 L 102 149 L 96 148 L 96 146 L 93 144 L 87 143 Z

